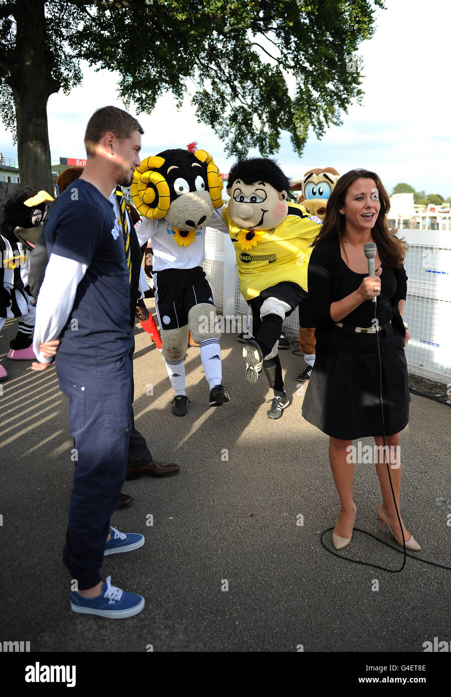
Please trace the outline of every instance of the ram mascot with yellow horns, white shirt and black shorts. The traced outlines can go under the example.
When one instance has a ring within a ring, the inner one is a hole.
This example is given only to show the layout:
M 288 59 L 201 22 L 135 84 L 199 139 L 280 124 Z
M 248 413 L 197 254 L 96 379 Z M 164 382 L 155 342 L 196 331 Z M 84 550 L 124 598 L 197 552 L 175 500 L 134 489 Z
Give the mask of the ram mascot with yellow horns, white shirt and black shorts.
M 199 343 L 209 386 L 209 406 L 229 401 L 222 385 L 220 334 L 206 321 L 214 310 L 211 288 L 201 268 L 205 261 L 207 223 L 228 227 L 216 213 L 222 208 L 222 179 L 212 156 L 204 150 L 165 150 L 142 160 L 135 171 L 132 199 L 142 223 L 139 244 L 151 240 L 155 309 L 162 354 L 174 389 L 171 411 L 187 411 L 185 350 L 188 335 Z

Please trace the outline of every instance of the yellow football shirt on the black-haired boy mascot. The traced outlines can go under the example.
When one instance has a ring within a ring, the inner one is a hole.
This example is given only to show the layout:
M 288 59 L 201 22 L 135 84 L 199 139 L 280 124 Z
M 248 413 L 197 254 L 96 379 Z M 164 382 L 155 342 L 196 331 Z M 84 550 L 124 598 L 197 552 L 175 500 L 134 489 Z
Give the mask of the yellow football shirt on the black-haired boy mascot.
M 261 291 L 277 283 L 291 281 L 307 291 L 307 265 L 313 247 L 309 245 L 321 225 L 311 220 L 303 206 L 288 204 L 288 214 L 277 227 L 267 230 L 250 251 L 243 251 L 237 234 L 244 228 L 232 220 L 227 206 L 222 219 L 229 225 L 234 243 L 240 277 L 240 291 L 246 300 L 256 298 Z

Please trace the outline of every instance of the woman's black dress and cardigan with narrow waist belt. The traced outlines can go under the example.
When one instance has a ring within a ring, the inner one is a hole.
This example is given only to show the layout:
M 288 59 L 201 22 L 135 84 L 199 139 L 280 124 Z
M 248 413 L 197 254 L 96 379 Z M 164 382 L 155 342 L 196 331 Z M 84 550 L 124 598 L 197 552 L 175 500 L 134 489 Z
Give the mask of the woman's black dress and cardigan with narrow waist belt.
M 381 264 L 381 294 L 376 318 L 381 325 L 382 404 L 385 436 L 408 423 L 406 330 L 398 302 L 406 299 L 402 268 Z M 309 312 L 316 326 L 316 360 L 303 403 L 303 417 L 328 436 L 344 441 L 382 436 L 379 402 L 379 358 L 376 333 L 354 327 L 374 325 L 374 303 L 365 300 L 344 319 L 343 328 L 330 317 L 330 304 L 356 291 L 367 274 L 355 273 L 342 259 L 337 238 L 316 245 L 309 260 Z

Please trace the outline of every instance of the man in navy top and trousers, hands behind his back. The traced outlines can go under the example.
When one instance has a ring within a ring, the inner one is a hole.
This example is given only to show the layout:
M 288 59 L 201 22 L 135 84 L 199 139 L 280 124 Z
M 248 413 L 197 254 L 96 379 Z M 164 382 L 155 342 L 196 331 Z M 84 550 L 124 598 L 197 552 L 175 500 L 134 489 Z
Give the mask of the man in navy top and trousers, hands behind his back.
M 109 526 L 127 465 L 133 336 L 124 236 L 108 199 L 140 164 L 142 132 L 116 107 L 91 116 L 86 167 L 57 199 L 45 231 L 49 262 L 33 342 L 32 368 L 45 369 L 56 354 L 59 385 L 70 399 L 75 471 L 63 560 L 76 582 L 71 607 L 108 618 L 144 608 L 140 595 L 100 578 L 105 555 L 144 544 L 142 535 Z

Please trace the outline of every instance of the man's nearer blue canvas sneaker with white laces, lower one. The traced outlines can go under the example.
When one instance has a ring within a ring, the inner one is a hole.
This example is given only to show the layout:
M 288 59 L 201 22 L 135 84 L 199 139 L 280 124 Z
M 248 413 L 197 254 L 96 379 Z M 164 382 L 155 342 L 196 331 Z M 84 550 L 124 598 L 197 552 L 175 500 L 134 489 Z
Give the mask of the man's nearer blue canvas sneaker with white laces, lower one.
M 102 592 L 95 598 L 84 598 L 75 590 L 70 591 L 70 607 L 85 615 L 100 615 L 110 620 L 121 620 L 137 615 L 144 608 L 144 598 L 136 593 L 111 585 L 111 576 L 102 585 Z

